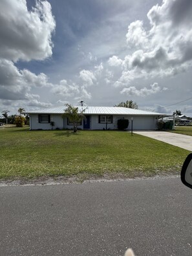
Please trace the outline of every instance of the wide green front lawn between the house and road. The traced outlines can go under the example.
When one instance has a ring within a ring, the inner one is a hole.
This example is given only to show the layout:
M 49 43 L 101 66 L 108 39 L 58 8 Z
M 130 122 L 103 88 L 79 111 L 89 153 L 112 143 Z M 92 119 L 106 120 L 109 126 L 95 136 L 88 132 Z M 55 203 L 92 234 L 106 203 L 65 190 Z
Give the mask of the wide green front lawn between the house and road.
M 189 151 L 121 131 L 0 129 L 0 178 L 179 173 Z

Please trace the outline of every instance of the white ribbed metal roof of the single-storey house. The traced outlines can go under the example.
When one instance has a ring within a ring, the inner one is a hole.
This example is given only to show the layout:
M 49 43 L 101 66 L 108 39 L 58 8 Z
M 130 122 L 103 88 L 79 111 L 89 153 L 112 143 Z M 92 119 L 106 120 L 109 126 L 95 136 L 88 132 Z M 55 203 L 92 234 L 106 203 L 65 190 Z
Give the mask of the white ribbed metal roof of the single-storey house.
M 76 106 L 77 107 L 77 106 Z M 28 114 L 63 114 L 67 107 L 54 107 L 50 109 L 39 109 L 37 111 L 28 111 Z M 127 107 L 80 107 L 78 106 L 79 111 L 84 110 L 84 114 L 120 114 L 120 115 L 147 115 L 147 116 L 166 116 L 163 113 L 151 112 L 151 111 L 142 111 L 139 109 L 129 109 Z

